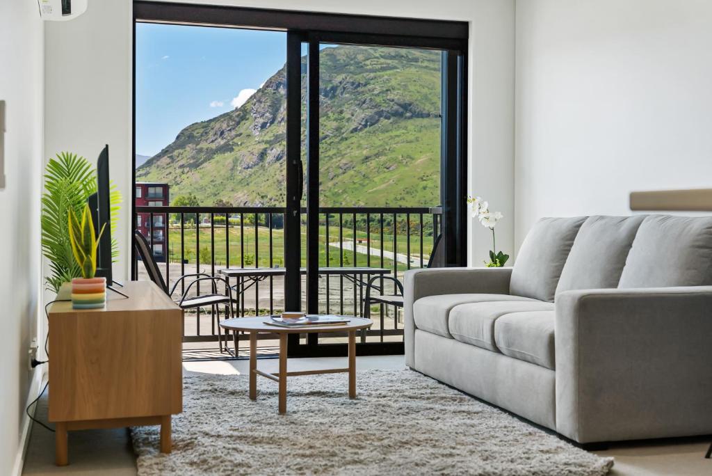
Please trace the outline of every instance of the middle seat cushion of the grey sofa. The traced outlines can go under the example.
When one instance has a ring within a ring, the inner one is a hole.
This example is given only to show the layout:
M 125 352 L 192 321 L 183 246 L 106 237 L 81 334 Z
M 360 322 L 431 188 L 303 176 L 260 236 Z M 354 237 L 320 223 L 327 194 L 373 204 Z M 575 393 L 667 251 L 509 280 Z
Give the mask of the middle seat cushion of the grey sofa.
M 553 311 L 554 304 L 542 301 L 491 301 L 459 304 L 450 311 L 449 331 L 457 341 L 498 352 L 494 325 L 513 312 Z

